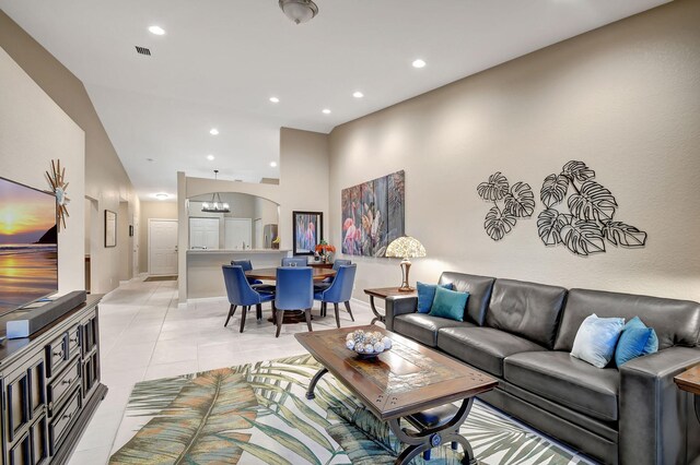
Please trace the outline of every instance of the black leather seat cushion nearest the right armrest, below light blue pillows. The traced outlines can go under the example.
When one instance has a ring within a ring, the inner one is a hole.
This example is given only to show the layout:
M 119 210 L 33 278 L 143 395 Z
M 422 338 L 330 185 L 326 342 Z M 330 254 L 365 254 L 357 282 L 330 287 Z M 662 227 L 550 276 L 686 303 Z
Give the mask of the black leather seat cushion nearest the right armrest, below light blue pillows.
M 605 421 L 618 419 L 620 383 L 615 368 L 595 368 L 564 351 L 516 354 L 503 361 L 504 378 L 526 391 Z

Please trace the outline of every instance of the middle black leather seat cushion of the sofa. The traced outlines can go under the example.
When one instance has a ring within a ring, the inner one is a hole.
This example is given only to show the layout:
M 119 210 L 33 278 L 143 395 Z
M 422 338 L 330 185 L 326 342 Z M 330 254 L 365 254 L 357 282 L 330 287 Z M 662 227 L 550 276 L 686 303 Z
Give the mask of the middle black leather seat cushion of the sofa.
M 438 334 L 438 347 L 499 378 L 503 378 L 503 359 L 509 355 L 544 349 L 523 337 L 492 327 L 442 329 Z

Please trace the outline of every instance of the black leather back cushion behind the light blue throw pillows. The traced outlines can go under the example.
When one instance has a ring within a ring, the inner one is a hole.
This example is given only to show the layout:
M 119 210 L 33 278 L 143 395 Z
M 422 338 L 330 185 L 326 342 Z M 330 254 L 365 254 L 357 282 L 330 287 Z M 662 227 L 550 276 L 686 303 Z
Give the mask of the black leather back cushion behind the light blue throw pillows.
M 700 332 L 700 303 L 602 290 L 571 289 L 561 318 L 555 350 L 571 351 L 583 320 L 591 313 L 619 317 L 626 321 L 639 317 L 658 337 L 658 350 L 674 345 L 695 347 Z

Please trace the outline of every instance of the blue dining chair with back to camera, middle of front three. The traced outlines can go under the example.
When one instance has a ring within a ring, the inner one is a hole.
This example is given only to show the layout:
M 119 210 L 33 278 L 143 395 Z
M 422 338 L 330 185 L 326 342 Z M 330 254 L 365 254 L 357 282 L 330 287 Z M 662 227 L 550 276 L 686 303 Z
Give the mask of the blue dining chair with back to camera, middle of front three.
M 314 306 L 313 270 L 310 266 L 283 266 L 277 269 L 277 293 L 272 313 L 280 336 L 284 310 L 303 310 L 308 331 L 311 327 L 311 308 Z

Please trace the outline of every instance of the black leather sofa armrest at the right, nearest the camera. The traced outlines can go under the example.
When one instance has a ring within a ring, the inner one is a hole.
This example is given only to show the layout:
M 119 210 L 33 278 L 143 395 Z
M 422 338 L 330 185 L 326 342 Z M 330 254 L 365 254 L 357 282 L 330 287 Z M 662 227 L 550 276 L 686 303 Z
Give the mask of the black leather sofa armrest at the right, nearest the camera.
M 700 362 L 700 349 L 670 347 L 620 367 L 621 464 L 685 464 L 692 397 L 674 377 Z

